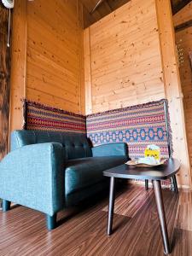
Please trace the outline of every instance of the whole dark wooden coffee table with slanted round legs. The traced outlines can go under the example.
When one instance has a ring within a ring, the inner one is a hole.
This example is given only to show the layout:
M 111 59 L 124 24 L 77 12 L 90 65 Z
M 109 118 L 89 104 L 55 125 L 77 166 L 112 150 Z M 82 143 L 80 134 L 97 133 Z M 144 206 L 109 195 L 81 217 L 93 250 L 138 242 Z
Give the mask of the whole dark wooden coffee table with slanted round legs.
M 113 225 L 113 207 L 114 207 L 114 183 L 115 177 L 121 178 L 136 178 L 136 179 L 150 179 L 153 181 L 154 195 L 158 211 L 158 216 L 160 220 L 160 231 L 164 245 L 164 253 L 171 253 L 171 248 L 169 244 L 167 226 L 166 226 L 166 215 L 163 204 L 163 197 L 161 191 L 161 180 L 166 180 L 172 177 L 173 185 L 176 193 L 177 190 L 177 180 L 176 173 L 179 171 L 180 162 L 176 159 L 170 158 L 162 166 L 156 167 L 138 167 L 138 166 L 116 166 L 107 171 L 103 172 L 104 176 L 110 177 L 110 190 L 109 190 L 109 204 L 108 204 L 108 236 L 112 233 Z

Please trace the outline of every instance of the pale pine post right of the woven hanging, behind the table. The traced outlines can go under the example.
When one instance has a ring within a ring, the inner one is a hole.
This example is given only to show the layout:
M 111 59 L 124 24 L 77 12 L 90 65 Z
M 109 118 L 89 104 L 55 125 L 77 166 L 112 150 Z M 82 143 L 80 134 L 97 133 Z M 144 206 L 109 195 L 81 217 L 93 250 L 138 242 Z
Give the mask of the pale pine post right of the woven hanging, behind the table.
M 173 157 L 181 160 L 178 183 L 191 187 L 189 154 L 183 113 L 183 94 L 177 67 L 175 35 L 172 25 L 170 0 L 156 0 L 157 19 L 160 32 L 160 50 L 164 73 L 165 94 L 169 102 L 172 127 Z

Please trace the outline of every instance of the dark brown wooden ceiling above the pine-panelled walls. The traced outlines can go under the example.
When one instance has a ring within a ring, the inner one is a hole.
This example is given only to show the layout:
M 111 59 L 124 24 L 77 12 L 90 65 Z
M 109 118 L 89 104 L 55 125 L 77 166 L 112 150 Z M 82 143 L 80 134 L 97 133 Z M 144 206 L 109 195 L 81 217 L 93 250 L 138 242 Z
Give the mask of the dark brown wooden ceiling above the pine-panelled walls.
M 113 10 L 118 9 L 120 6 L 128 3 L 130 0 L 103 0 L 98 5 L 96 10 L 90 14 L 91 10 L 96 7 L 99 0 L 81 0 L 84 4 L 84 28 L 95 23 L 97 20 L 101 20 L 102 17 L 110 14 Z M 142 1 L 142 0 L 141 0 Z M 172 12 L 176 14 L 177 11 L 182 9 L 191 0 L 171 0 Z

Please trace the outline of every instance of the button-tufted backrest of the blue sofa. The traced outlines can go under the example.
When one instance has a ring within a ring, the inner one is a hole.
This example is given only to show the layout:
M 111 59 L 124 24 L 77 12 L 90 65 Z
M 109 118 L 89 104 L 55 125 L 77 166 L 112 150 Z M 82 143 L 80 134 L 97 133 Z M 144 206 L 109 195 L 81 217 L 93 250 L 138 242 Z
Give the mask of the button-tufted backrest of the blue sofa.
M 30 130 L 13 131 L 11 134 L 11 150 L 36 143 L 61 143 L 67 159 L 84 158 L 92 154 L 85 134 Z

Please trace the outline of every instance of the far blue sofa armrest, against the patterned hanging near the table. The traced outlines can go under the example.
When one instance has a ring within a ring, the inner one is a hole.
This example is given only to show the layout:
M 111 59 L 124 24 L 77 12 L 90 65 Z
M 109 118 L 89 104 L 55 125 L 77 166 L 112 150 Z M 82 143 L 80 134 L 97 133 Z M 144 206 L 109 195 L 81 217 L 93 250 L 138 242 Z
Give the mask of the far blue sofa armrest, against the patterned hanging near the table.
M 108 143 L 92 148 L 93 156 L 126 155 L 128 146 L 126 143 Z

